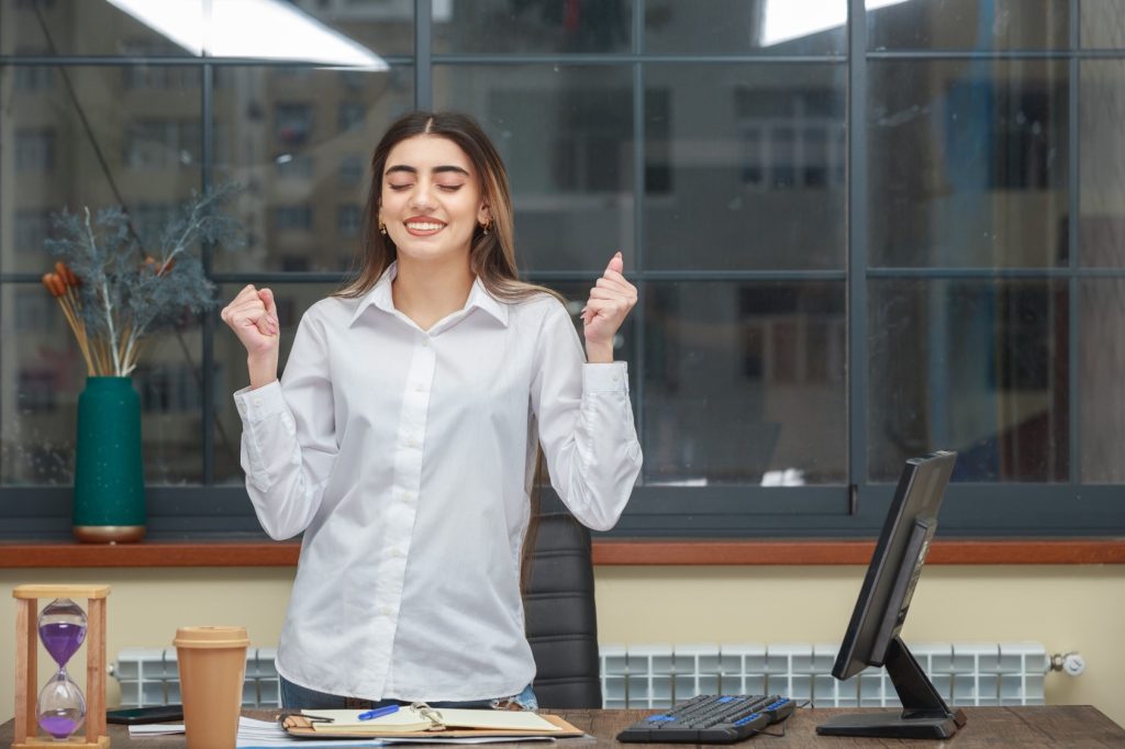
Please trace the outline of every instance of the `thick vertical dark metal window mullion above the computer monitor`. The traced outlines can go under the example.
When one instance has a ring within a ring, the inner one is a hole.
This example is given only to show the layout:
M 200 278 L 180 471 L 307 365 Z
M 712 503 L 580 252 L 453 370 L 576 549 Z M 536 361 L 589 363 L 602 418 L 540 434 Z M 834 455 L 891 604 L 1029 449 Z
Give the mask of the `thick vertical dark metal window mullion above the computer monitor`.
M 847 464 L 848 484 L 867 484 L 867 26 L 864 0 L 848 0 L 847 60 Z M 856 507 L 852 508 L 857 512 Z

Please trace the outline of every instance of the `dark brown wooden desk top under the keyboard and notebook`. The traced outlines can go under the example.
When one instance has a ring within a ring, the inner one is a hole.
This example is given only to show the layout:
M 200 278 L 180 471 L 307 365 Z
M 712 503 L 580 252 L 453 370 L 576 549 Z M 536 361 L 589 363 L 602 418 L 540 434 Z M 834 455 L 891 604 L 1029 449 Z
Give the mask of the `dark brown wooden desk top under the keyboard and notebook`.
M 746 749 L 777 749 L 782 747 L 839 747 L 840 749 L 853 749 L 856 747 L 924 747 L 925 749 L 938 749 L 939 747 L 951 747 L 954 749 L 975 749 L 976 747 L 1019 747 L 1020 749 L 1081 749 L 1083 747 L 1125 747 L 1125 729 L 1117 725 L 1097 709 L 1089 705 L 1058 705 L 1050 707 L 965 707 L 969 723 L 948 741 L 906 741 L 893 739 L 847 739 L 835 737 L 817 736 L 817 725 L 832 715 L 838 715 L 844 710 L 799 710 L 792 718 L 782 725 L 785 728 L 784 738 L 757 737 L 749 741 L 741 742 L 740 747 Z M 646 710 L 560 710 L 552 711 L 570 721 L 577 728 L 586 731 L 596 738 L 596 742 L 584 739 L 565 739 L 558 747 L 574 747 L 574 749 L 590 749 L 591 747 L 626 747 L 639 745 L 626 745 L 614 741 L 613 737 L 626 725 L 640 720 L 654 711 Z M 251 718 L 269 720 L 273 718 L 274 711 L 248 710 L 245 714 Z M 11 743 L 14 721 L 8 721 L 0 727 L 0 747 Z M 781 727 L 773 727 L 776 730 Z M 155 737 L 145 739 L 129 739 L 128 729 L 124 725 L 110 725 L 109 737 L 111 749 L 123 749 L 136 747 L 138 749 L 147 747 L 169 748 L 184 747 L 187 742 L 183 736 Z M 345 742 L 342 742 L 345 743 Z M 60 747 L 66 745 L 61 743 Z M 406 746 L 406 745 L 402 745 Z M 441 746 L 441 745 L 434 745 Z M 529 742 L 526 745 L 503 743 L 492 745 L 515 749 L 516 747 L 529 747 L 530 749 L 542 749 L 542 743 Z M 646 745 L 649 747 L 662 746 L 669 749 L 684 749 L 690 745 Z

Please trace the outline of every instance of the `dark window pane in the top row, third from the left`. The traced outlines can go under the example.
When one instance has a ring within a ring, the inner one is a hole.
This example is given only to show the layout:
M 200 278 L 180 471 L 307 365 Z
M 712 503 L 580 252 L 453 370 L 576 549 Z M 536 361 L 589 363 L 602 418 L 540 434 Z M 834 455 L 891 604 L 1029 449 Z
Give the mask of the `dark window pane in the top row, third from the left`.
M 449 0 L 433 7 L 438 53 L 629 52 L 632 0 Z

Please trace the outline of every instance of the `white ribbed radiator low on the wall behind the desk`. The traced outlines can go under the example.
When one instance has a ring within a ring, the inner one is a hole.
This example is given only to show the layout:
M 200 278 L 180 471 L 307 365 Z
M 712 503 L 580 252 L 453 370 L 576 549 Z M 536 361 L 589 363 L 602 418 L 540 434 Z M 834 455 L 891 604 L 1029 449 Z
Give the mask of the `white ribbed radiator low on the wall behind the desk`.
M 868 668 L 847 682 L 831 675 L 838 646 L 602 646 L 605 707 L 669 707 L 698 694 L 781 694 L 816 707 L 899 704 L 886 673 Z M 911 644 L 910 651 L 952 705 L 1042 705 L 1050 667 L 1036 642 Z M 273 648 L 246 651 L 245 707 L 280 705 Z M 122 706 L 180 702 L 176 649 L 127 648 L 110 669 Z

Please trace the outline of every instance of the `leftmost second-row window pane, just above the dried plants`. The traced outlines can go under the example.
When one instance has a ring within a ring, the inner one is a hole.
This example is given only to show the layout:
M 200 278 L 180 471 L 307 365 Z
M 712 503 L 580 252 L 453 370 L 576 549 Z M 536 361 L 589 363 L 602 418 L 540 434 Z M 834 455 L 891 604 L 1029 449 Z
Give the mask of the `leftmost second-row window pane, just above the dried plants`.
M 43 241 L 63 207 L 124 201 L 143 254 L 154 254 L 163 222 L 200 184 L 199 81 L 196 67 L 0 69 L 0 99 L 10 102 L 0 112 L 0 181 L 19 186 L 0 204 L 0 271 L 51 268 Z

